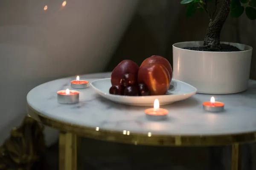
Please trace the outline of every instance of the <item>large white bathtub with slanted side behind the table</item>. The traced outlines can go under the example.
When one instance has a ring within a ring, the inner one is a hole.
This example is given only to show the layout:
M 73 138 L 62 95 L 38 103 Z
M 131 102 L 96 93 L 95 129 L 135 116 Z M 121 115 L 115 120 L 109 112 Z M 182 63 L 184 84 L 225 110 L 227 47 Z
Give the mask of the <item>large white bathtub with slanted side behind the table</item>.
M 139 0 L 0 3 L 0 144 L 26 115 L 26 94 L 52 79 L 104 71 Z M 58 133 L 46 129 L 52 144 Z

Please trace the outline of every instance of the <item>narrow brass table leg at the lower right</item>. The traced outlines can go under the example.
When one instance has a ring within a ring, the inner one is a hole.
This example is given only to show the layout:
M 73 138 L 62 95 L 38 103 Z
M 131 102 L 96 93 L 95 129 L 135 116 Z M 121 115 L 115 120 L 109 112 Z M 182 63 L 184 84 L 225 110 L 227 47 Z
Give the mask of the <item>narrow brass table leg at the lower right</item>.
M 241 170 L 241 145 L 232 145 L 231 170 Z

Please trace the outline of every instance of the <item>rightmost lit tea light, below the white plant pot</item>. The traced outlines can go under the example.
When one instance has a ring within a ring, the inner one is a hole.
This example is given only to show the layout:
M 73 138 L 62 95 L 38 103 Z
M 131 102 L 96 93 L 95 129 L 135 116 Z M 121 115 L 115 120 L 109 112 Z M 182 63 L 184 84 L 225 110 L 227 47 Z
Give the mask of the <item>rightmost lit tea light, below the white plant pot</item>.
M 215 102 L 215 98 L 211 97 L 210 102 L 204 102 L 203 107 L 205 111 L 209 112 L 220 112 L 224 110 L 224 103 Z

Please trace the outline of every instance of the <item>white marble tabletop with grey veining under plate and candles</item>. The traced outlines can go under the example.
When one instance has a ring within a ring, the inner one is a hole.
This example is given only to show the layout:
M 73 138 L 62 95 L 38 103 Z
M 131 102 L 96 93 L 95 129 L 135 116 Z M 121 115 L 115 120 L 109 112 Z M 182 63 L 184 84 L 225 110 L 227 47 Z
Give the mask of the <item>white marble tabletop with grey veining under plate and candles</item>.
M 88 74 L 80 79 L 93 81 L 108 78 L 110 73 Z M 256 132 L 256 81 L 250 80 L 247 91 L 239 94 L 213 95 L 225 103 L 225 111 L 208 113 L 202 103 L 212 95 L 195 94 L 189 99 L 163 105 L 169 110 L 166 121 L 154 122 L 145 117 L 148 107 L 120 105 L 104 99 L 89 87 L 80 91 L 79 103 L 57 102 L 56 92 L 70 87 L 76 77 L 57 79 L 33 88 L 27 95 L 28 104 L 42 115 L 73 125 L 130 133 L 159 135 L 225 135 Z

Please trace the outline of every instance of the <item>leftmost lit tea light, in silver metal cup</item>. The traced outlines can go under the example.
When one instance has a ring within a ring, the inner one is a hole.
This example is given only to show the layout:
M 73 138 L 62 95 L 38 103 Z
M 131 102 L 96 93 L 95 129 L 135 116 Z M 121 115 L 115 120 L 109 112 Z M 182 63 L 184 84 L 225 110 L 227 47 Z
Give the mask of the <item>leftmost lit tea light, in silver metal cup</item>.
M 79 102 L 79 91 L 61 90 L 57 91 L 58 102 L 64 104 L 72 104 Z

